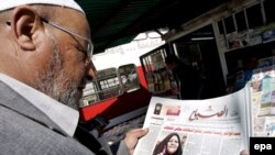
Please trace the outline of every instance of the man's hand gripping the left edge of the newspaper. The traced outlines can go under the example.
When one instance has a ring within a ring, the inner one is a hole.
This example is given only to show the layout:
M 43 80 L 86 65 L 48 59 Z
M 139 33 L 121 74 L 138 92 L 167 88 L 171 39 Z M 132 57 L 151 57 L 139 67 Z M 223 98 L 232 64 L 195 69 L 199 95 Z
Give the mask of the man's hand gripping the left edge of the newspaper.
M 139 142 L 139 139 L 141 139 L 147 133 L 148 133 L 148 129 L 135 129 L 135 130 L 129 131 L 125 134 L 124 142 L 131 155 L 134 153 L 134 148 Z

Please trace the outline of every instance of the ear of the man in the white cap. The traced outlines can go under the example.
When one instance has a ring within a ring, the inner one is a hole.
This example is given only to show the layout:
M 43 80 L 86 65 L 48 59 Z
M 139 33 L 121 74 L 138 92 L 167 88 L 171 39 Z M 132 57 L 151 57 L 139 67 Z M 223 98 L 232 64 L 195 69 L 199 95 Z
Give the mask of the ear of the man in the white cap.
M 33 36 L 42 27 L 42 23 L 35 10 L 28 5 L 14 9 L 11 26 L 21 48 L 26 51 L 36 48 Z

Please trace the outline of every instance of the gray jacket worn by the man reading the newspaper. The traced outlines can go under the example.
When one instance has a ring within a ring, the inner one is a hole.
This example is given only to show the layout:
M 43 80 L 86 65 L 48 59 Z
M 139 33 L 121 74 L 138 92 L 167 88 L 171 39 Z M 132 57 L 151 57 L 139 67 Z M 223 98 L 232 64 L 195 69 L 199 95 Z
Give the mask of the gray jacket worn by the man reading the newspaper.
M 1 155 L 95 155 L 0 81 Z M 128 155 L 124 142 L 118 155 Z

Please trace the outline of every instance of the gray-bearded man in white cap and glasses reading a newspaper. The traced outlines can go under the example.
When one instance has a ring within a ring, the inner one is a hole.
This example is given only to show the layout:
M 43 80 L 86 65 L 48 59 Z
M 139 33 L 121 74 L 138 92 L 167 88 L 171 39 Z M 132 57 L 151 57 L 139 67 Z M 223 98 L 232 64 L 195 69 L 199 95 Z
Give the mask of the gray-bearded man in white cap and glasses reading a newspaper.
M 69 108 L 77 107 L 85 79 L 96 74 L 89 34 L 73 0 L 1 1 L 1 154 L 97 154 L 73 137 L 79 114 Z M 132 154 L 146 133 L 127 133 L 118 154 Z

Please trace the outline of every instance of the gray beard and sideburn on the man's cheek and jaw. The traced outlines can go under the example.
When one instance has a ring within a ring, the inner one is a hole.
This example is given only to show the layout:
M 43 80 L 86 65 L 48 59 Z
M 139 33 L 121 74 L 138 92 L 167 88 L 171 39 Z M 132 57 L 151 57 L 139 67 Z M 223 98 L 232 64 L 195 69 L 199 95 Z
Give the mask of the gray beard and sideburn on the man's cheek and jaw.
M 79 81 L 68 78 L 66 70 L 62 67 L 62 57 L 55 43 L 53 40 L 53 53 L 47 69 L 38 73 L 35 78 L 36 89 L 66 106 L 78 109 L 78 101 L 81 98 L 81 92 L 77 89 Z

